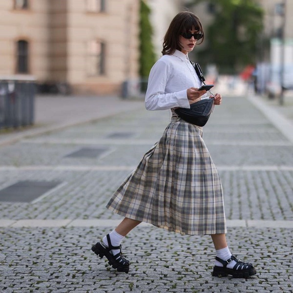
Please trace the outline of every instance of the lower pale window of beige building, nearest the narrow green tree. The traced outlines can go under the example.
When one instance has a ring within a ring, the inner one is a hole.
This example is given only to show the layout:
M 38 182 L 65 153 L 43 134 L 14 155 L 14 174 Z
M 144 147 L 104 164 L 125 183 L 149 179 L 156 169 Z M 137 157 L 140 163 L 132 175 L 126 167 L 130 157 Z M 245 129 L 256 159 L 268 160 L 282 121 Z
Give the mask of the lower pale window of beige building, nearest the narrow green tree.
M 88 76 L 105 74 L 105 43 L 91 41 L 87 44 L 87 68 Z

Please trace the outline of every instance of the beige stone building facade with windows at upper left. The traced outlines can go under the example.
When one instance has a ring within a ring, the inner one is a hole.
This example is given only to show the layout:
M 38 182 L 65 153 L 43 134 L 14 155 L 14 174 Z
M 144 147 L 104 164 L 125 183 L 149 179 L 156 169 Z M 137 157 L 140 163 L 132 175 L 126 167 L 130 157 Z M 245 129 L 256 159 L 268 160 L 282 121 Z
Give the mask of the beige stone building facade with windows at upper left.
M 5 0 L 0 27 L 0 76 L 96 94 L 138 77 L 138 0 Z

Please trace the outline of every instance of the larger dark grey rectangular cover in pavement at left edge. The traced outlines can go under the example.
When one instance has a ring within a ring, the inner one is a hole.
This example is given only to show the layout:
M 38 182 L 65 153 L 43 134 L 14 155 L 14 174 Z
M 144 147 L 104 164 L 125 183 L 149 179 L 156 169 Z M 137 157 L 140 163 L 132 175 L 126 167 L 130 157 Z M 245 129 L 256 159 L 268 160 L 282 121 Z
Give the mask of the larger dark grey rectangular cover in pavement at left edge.
M 19 181 L 0 190 L 0 202 L 29 203 L 59 184 L 57 181 Z

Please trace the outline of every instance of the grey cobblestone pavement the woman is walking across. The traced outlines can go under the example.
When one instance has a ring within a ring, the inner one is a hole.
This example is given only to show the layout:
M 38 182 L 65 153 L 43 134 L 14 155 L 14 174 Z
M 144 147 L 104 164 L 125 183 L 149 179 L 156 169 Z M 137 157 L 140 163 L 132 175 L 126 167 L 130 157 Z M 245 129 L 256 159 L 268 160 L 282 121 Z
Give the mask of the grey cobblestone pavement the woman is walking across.
M 222 178 L 230 250 L 253 262 L 256 276 L 212 277 L 209 236 L 150 225 L 123 243 L 128 274 L 90 251 L 121 219 L 105 209 L 109 197 L 169 118 L 142 104 L 0 146 L 0 190 L 24 180 L 60 183 L 30 203 L 0 202 L 1 293 L 293 292 L 293 143 L 245 98 L 227 97 L 204 139 Z M 102 154 L 70 156 L 81 148 Z

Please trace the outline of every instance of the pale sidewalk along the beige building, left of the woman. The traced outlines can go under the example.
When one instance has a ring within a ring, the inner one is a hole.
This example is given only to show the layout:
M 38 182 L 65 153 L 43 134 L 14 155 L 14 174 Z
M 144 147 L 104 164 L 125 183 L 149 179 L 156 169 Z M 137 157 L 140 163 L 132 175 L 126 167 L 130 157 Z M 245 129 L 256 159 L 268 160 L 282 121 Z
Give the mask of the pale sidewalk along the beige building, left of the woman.
M 38 95 L 35 104 L 34 126 L 8 133 L 0 132 L 0 146 L 17 142 L 24 137 L 39 135 L 144 107 L 143 101 L 122 100 L 116 96 Z

